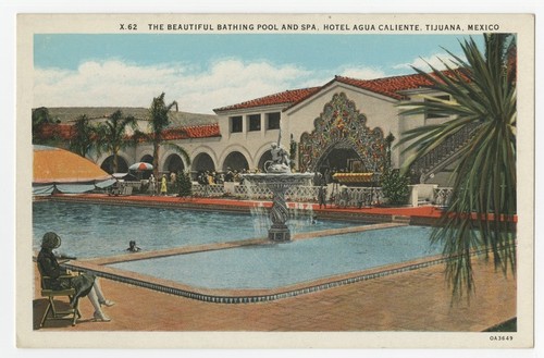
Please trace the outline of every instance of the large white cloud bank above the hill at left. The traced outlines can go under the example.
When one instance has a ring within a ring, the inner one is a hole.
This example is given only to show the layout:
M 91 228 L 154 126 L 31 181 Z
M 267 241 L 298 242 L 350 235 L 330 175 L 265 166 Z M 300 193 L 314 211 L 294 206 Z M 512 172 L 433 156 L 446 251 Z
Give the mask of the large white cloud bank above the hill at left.
M 122 61 L 88 61 L 77 70 L 35 69 L 34 107 L 148 107 L 162 91 L 188 112 L 297 88 L 308 70 L 265 61 L 223 59 L 206 71 L 183 63 L 141 66 Z

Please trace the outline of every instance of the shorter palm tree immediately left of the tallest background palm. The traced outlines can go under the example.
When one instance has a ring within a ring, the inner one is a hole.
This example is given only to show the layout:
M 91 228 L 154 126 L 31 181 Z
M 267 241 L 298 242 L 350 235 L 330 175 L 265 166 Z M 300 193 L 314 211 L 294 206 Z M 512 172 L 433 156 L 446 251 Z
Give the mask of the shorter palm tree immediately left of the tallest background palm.
M 100 124 L 97 128 L 98 149 L 99 152 L 104 150 L 113 156 L 112 171 L 118 171 L 119 152 L 133 145 L 127 138 L 126 127 L 131 126 L 136 128 L 136 119 L 132 115 L 123 116 L 121 110 L 116 110 L 104 123 Z

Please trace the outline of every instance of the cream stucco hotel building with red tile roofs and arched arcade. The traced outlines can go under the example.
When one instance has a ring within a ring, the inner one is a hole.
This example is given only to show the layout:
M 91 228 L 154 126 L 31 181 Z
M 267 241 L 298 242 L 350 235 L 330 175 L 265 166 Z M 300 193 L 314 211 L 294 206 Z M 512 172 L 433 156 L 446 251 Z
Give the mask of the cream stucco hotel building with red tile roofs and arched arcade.
M 410 153 L 395 146 L 407 129 L 445 121 L 447 118 L 401 115 L 404 103 L 429 100 L 443 94 L 433 92 L 429 81 L 419 74 L 356 79 L 336 76 L 323 86 L 286 90 L 215 108 L 212 114 L 171 112 L 171 125 L 164 139 L 182 146 L 190 157 L 187 163 L 174 150 L 162 146 L 159 171 L 190 170 L 224 172 L 262 170 L 270 160 L 271 143 L 277 141 L 290 151 L 294 170 L 322 172 L 380 172 L 386 156 L 385 137 L 391 133 L 391 159 L 399 168 Z M 421 95 L 428 96 L 423 99 Z M 118 108 L 50 108 L 50 114 L 62 125 L 86 114 L 104 121 Z M 121 108 L 134 115 L 140 131 L 148 129 L 145 108 Z M 70 135 L 65 134 L 69 138 Z M 435 153 L 413 165 L 415 181 L 447 184 L 448 165 L 455 160 L 455 146 L 462 138 L 443 145 Z M 139 143 L 120 153 L 119 171 L 133 162 L 152 160 L 152 145 Z M 92 158 L 108 170 L 109 153 Z

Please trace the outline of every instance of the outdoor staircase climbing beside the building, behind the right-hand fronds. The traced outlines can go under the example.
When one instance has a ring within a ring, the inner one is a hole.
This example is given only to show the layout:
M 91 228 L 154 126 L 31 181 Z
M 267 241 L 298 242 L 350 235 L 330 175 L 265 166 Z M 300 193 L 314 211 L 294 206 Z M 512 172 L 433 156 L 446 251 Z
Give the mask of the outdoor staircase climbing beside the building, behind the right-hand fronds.
M 411 172 L 420 174 L 419 182 L 425 183 L 435 173 L 444 170 L 459 157 L 459 149 L 472 138 L 479 123 L 467 125 L 453 136 L 449 136 L 438 147 L 434 148 L 411 164 Z

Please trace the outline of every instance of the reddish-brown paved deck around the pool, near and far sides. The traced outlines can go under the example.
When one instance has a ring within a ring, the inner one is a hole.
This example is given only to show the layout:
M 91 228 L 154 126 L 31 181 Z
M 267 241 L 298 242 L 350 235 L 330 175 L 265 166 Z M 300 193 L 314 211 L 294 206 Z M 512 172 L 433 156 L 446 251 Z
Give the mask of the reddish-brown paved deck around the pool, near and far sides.
M 72 196 L 72 199 L 187 205 L 174 197 Z M 189 200 L 191 207 L 218 205 L 232 207 L 233 210 L 251 205 L 227 199 Z M 324 211 L 314 210 L 318 215 Z M 397 217 L 411 220 L 436 219 L 440 215 L 440 210 L 432 207 L 327 208 L 326 211 L 385 215 L 393 221 Z M 75 326 L 67 321 L 50 321 L 42 329 L 39 329 L 39 320 L 46 301 L 39 296 L 39 275 L 36 272 L 34 329 L 63 332 L 481 332 L 517 316 L 517 281 L 511 273 L 505 276 L 483 259 L 473 260 L 475 294 L 470 301 L 462 299 L 453 305 L 443 264 L 273 301 L 235 305 L 190 299 L 102 277 L 100 282 L 104 293 L 116 303 L 104 308 L 112 318 L 111 322 L 91 321 L 92 307 L 87 299 L 82 299 L 83 318 Z M 220 343 L 218 345 L 221 346 Z M 224 345 L 236 346 L 234 343 Z

